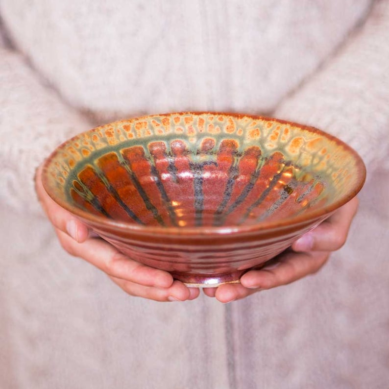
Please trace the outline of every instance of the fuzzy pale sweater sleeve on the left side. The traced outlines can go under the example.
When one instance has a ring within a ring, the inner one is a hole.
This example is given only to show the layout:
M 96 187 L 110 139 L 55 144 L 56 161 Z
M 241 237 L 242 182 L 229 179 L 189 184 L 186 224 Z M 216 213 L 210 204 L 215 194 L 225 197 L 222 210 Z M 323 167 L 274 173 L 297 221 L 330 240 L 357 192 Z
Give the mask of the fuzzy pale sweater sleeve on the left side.
M 36 168 L 69 137 L 91 127 L 14 51 L 0 46 L 0 202 L 41 213 Z

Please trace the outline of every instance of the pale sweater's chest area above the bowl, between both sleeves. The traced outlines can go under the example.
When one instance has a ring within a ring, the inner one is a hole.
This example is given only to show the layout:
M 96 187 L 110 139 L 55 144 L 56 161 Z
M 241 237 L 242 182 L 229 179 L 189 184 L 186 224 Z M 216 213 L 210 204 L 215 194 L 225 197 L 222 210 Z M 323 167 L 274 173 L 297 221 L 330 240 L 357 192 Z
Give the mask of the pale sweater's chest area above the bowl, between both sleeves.
M 11 37 L 71 104 L 98 115 L 270 112 L 369 1 L 1 2 Z

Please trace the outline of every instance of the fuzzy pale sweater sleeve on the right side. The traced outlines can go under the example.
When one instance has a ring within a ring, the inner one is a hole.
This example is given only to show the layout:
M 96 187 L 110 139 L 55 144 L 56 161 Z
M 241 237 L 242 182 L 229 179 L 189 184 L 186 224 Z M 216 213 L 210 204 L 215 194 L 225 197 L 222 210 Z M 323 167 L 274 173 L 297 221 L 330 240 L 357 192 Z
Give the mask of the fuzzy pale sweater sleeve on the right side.
M 352 146 L 367 172 L 389 169 L 389 1 L 274 116 L 332 133 Z

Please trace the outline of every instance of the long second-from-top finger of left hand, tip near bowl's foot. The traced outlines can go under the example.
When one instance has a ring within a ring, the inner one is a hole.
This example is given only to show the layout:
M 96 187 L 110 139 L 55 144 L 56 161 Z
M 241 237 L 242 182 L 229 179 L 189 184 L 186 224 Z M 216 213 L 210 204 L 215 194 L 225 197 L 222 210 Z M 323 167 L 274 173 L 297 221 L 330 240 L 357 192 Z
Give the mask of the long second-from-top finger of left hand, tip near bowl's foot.
M 66 251 L 83 258 L 112 277 L 158 288 L 169 288 L 173 284 L 173 277 L 167 271 L 133 261 L 102 239 L 90 238 L 77 243 L 64 232 L 58 229 L 56 232 Z

